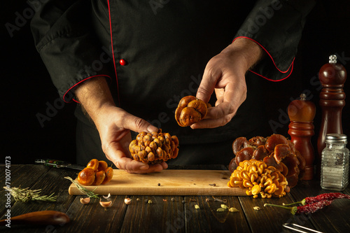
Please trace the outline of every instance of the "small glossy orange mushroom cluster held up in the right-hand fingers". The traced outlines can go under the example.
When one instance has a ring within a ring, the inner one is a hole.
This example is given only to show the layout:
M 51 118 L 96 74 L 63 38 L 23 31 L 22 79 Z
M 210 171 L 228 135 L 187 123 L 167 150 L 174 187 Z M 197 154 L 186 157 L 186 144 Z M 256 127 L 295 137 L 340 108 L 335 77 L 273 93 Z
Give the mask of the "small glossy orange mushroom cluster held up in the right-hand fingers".
M 183 97 L 175 111 L 175 120 L 181 127 L 193 125 L 207 115 L 210 104 L 193 96 Z

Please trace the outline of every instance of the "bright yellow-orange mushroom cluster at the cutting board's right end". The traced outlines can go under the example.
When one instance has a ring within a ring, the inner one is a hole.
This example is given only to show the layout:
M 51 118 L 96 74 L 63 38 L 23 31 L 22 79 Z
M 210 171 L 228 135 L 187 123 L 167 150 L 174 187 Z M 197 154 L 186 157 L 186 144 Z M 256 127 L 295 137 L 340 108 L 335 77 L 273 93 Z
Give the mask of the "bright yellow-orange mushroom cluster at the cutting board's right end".
M 257 198 L 283 197 L 289 192 L 288 182 L 275 167 L 258 160 L 244 160 L 230 176 L 228 187 L 248 188 L 246 195 Z

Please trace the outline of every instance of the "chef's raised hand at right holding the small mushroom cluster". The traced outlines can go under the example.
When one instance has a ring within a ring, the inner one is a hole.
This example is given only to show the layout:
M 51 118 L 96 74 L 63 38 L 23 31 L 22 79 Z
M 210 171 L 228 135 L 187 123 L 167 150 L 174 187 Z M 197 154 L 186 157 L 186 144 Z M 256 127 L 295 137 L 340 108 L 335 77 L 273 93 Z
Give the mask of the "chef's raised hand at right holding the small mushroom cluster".
M 220 127 L 230 122 L 246 99 L 245 73 L 261 56 L 259 45 L 248 38 L 237 38 L 209 60 L 196 97 L 208 102 L 215 90 L 217 100 L 203 120 L 191 125 L 193 129 Z

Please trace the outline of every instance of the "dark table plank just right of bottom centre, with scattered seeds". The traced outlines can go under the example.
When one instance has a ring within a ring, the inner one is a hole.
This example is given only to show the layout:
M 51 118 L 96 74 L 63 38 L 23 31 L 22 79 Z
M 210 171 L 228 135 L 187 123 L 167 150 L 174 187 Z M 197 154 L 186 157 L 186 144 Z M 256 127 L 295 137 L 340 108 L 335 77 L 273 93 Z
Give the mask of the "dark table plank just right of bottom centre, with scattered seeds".
M 216 202 L 211 196 L 185 198 L 186 232 L 251 232 L 237 197 L 216 196 L 215 198 L 226 202 Z M 238 212 L 233 213 L 228 209 L 218 212 L 217 209 L 221 208 L 221 204 L 235 207 Z M 195 205 L 200 209 L 196 209 Z

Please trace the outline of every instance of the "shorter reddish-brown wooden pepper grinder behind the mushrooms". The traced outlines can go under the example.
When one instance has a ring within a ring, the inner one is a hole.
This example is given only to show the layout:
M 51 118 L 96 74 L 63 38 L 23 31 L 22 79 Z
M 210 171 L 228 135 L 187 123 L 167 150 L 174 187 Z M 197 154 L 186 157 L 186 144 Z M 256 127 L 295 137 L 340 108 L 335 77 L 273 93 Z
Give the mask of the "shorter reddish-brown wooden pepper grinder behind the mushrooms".
M 306 100 L 306 94 L 300 94 L 300 99 L 295 99 L 288 106 L 290 119 L 288 134 L 295 149 L 305 159 L 305 174 L 303 180 L 309 181 L 314 178 L 314 147 L 311 137 L 314 136 L 314 118 L 316 106 Z

